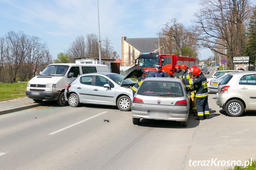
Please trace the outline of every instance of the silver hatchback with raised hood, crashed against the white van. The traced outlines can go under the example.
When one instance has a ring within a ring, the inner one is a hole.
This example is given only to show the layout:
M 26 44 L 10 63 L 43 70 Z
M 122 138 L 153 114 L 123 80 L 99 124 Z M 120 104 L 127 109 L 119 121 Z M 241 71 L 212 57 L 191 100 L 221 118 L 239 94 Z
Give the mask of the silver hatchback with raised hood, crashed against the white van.
M 143 70 L 144 71 L 144 70 Z M 143 72 L 141 73 L 142 77 Z M 131 77 L 131 75 L 130 75 Z M 124 80 L 116 73 L 88 73 L 79 75 L 65 89 L 65 100 L 71 107 L 80 103 L 117 106 L 121 111 L 129 111 L 132 105 L 132 87 L 136 83 Z

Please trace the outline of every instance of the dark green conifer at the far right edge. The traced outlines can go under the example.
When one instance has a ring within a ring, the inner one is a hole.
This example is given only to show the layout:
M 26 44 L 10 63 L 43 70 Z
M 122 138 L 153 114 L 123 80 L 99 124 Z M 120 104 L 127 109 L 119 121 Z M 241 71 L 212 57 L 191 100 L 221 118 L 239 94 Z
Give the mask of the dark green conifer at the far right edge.
M 249 56 L 250 63 L 256 65 L 256 9 L 253 12 L 253 15 L 249 23 L 249 42 L 247 47 L 244 50 L 244 56 Z

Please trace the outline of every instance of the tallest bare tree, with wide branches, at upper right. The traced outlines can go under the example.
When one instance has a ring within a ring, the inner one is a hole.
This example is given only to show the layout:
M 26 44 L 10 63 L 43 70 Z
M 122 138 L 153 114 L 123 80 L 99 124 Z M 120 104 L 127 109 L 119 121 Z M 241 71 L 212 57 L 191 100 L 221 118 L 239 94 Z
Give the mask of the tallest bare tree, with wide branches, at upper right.
M 249 0 L 200 0 L 200 9 L 195 13 L 194 27 L 199 43 L 212 51 L 228 57 L 242 55 L 245 20 L 251 12 Z

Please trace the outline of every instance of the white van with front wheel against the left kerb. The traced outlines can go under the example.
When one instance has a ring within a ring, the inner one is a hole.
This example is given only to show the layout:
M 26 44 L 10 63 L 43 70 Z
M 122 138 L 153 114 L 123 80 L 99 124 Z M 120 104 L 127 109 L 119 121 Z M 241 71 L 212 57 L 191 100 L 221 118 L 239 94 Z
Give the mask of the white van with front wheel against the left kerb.
M 50 64 L 27 84 L 26 95 L 35 102 L 57 100 L 58 105 L 66 106 L 64 90 L 78 75 L 96 72 L 109 72 L 102 64 Z

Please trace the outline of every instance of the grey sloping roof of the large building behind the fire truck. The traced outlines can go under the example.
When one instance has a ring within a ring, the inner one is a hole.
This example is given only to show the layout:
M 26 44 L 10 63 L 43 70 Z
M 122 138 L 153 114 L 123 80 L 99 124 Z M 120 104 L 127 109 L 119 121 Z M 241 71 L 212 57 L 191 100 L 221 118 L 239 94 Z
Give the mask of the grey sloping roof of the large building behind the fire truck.
M 158 38 L 126 38 L 125 41 L 141 53 L 153 52 L 158 48 Z

